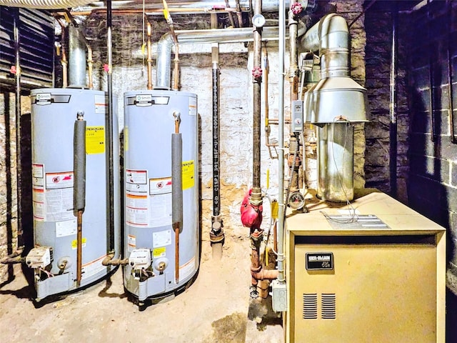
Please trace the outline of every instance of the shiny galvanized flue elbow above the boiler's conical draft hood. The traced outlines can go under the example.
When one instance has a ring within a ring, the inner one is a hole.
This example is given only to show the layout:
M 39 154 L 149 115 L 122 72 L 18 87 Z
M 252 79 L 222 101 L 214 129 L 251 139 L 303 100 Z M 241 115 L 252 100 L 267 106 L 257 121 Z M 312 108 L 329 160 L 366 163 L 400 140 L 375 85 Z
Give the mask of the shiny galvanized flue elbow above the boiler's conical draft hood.
M 319 51 L 321 79 L 326 79 L 349 76 L 349 41 L 346 19 L 328 14 L 306 32 L 301 45 L 307 51 Z

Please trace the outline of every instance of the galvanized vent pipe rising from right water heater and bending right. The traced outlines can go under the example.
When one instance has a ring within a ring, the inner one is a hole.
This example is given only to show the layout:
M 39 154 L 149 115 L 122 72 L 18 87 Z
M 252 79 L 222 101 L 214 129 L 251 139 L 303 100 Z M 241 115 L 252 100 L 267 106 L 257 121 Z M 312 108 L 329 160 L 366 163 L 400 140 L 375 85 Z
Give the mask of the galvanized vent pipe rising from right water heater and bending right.
M 306 32 L 306 27 L 298 27 L 298 36 Z M 210 29 L 210 30 L 182 30 L 175 31 L 179 44 L 202 43 L 236 43 L 253 41 L 252 28 L 240 29 Z M 266 26 L 262 30 L 262 40 L 273 41 L 278 39 L 278 27 Z M 171 34 L 164 34 L 157 44 L 157 70 L 154 89 L 170 89 L 171 79 L 171 50 L 174 46 Z

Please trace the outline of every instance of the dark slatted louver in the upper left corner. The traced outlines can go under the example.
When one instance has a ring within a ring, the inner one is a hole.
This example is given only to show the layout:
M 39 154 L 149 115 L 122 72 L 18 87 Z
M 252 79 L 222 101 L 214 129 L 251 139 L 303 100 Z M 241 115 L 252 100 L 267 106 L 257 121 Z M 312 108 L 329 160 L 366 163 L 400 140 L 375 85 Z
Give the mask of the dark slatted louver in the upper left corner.
M 0 6 L 0 86 L 14 89 L 16 65 L 14 18 L 19 23 L 21 86 L 52 86 L 54 71 L 54 19 L 46 11 Z

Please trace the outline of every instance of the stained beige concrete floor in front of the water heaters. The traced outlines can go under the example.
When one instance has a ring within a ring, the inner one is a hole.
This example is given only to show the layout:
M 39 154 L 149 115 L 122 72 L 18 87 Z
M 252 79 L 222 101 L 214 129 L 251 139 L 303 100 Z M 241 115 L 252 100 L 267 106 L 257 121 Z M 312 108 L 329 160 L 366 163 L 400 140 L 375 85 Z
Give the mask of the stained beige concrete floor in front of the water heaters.
M 194 284 L 144 311 L 124 292 L 122 271 L 83 291 L 34 304 L 21 267 L 0 288 L 0 342 L 282 343 L 282 319 L 249 297 L 249 239 L 227 237 L 223 257 L 202 244 Z M 269 306 L 270 305 L 270 306 Z

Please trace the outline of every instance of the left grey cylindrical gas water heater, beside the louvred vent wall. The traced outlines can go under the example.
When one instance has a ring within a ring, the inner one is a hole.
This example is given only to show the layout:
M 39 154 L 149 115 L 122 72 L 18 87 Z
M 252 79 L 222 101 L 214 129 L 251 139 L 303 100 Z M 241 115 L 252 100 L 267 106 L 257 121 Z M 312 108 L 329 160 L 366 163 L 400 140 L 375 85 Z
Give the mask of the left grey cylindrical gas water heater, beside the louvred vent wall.
M 106 111 L 104 91 L 69 88 L 31 91 L 34 249 L 27 255 L 26 264 L 34 269 L 37 299 L 79 289 L 111 271 L 112 267 L 101 264 L 113 248 L 109 247 L 107 239 L 110 224 L 114 225 L 111 242 L 114 241 L 114 251 L 119 255 L 119 130 L 115 113 L 116 125 L 112 136 L 114 164 L 111 166 L 114 170 L 114 223 L 109 223 L 107 214 L 110 209 L 106 201 Z M 78 220 L 74 209 L 74 155 L 77 144 L 74 131 L 77 116 L 86 121 L 86 127 L 81 131 L 85 141 L 85 156 L 84 145 L 81 151 L 86 160 L 81 250 L 77 249 Z M 77 250 L 81 256 L 77 256 Z

